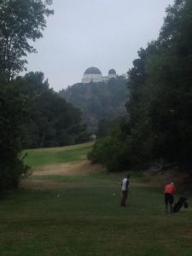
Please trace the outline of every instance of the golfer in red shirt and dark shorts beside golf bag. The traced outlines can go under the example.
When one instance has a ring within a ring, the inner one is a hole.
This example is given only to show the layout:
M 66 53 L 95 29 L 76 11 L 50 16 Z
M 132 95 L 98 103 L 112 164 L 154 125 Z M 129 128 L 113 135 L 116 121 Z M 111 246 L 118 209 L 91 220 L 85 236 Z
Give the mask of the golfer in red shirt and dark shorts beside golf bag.
M 172 213 L 172 205 L 174 203 L 173 194 L 175 193 L 175 184 L 169 183 L 166 185 L 164 189 L 165 193 L 165 212 L 168 213 L 168 207 L 170 208 L 170 212 Z

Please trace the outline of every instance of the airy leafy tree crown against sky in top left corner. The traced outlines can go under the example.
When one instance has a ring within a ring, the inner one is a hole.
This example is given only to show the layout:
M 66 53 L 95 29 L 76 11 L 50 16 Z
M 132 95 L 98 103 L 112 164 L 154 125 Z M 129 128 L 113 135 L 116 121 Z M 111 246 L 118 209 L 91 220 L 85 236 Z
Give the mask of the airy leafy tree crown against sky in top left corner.
M 9 81 L 25 70 L 26 54 L 36 50 L 29 44 L 41 38 L 47 8 L 52 1 L 0 0 L 0 76 Z

